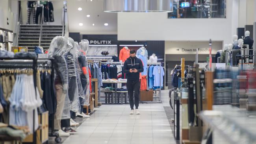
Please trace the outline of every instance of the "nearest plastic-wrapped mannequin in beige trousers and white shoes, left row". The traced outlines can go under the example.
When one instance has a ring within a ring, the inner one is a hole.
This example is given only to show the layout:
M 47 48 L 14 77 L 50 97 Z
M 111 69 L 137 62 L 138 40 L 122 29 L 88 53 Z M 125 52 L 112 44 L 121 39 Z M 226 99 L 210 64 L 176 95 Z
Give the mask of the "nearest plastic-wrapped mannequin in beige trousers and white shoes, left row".
M 63 115 L 63 107 L 65 99 L 67 98 L 68 90 L 68 74 L 67 64 L 63 55 L 67 50 L 67 39 L 65 37 L 56 36 L 52 39 L 49 48 L 49 56 L 54 57 L 54 69 L 56 71 L 56 77 L 54 80 L 56 89 L 56 113 L 54 114 L 54 129 L 58 130 L 59 136 L 69 136 L 69 133 L 65 133 L 61 130 L 61 117 Z M 69 103 L 68 103 L 69 104 Z M 70 113 L 69 113 L 70 114 Z

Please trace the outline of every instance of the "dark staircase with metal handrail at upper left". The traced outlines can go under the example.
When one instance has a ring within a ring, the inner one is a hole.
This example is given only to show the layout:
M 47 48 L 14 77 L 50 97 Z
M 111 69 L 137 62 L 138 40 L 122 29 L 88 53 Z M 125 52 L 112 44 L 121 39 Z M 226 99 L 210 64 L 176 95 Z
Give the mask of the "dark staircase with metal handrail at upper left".
M 28 51 L 34 51 L 39 46 L 40 25 L 20 25 L 19 46 L 27 46 Z M 62 35 L 62 25 L 43 25 L 41 46 L 48 50 L 52 39 Z

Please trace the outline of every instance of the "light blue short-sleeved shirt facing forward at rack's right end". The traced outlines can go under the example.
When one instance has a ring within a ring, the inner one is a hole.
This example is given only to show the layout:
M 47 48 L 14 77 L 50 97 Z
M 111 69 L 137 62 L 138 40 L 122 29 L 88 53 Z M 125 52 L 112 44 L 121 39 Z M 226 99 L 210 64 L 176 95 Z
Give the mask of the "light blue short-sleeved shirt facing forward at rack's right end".
M 153 73 L 154 75 L 154 87 L 163 87 L 163 76 L 164 71 L 162 66 L 154 66 Z M 161 84 L 160 84 L 161 79 Z

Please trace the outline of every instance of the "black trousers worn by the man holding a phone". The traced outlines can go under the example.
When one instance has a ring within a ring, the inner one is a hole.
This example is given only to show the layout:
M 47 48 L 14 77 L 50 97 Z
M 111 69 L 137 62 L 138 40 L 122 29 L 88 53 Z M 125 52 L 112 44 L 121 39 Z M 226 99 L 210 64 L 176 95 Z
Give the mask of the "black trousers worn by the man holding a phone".
M 139 89 L 140 89 L 141 83 L 138 81 L 127 81 L 127 90 L 129 94 L 129 103 L 131 109 L 134 109 L 134 103 L 135 103 L 135 109 L 138 109 L 139 107 Z

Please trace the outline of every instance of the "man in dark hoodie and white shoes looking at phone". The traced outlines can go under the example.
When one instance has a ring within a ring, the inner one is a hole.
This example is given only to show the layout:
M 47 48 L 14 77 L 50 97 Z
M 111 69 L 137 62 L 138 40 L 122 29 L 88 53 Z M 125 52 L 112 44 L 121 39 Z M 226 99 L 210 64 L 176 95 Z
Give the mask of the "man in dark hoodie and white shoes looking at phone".
M 124 73 L 127 76 L 127 90 L 129 94 L 129 103 L 131 107 L 130 114 L 140 114 L 139 107 L 139 89 L 141 87 L 139 81 L 139 73 L 143 72 L 143 64 L 141 59 L 136 57 L 135 50 L 130 50 L 130 57 L 124 62 Z M 134 113 L 135 103 L 135 113 Z

